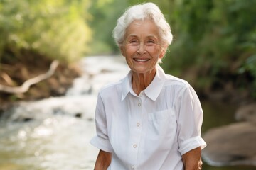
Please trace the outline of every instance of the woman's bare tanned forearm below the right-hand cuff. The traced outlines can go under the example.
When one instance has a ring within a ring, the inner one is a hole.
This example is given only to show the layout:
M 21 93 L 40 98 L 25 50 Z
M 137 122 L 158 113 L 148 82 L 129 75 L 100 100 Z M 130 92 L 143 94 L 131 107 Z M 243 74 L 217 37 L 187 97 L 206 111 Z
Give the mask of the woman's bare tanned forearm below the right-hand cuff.
M 201 160 L 201 147 L 197 147 L 183 154 L 182 160 L 184 170 L 201 170 L 203 164 Z

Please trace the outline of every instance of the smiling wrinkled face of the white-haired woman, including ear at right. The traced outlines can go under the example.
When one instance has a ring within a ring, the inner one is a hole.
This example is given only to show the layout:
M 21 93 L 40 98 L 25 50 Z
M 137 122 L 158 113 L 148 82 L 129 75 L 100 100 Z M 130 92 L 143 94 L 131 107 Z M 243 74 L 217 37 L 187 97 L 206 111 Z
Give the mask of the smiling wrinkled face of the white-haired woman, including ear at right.
M 120 49 L 129 67 L 138 74 L 156 69 L 165 52 L 161 47 L 159 28 L 149 19 L 133 21 L 129 25 Z

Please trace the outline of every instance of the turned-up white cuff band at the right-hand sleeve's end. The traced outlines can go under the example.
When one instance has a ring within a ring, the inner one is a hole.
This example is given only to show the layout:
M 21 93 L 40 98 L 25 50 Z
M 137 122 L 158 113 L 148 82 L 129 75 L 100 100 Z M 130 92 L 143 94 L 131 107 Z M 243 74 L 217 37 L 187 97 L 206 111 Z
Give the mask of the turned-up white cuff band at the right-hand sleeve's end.
M 179 147 L 180 149 L 178 149 L 178 151 L 181 153 L 181 155 L 183 155 L 186 154 L 186 152 L 197 147 L 201 147 L 201 149 L 206 147 L 206 142 L 200 136 L 192 137 L 188 140 L 184 140 L 183 142 L 181 142 Z

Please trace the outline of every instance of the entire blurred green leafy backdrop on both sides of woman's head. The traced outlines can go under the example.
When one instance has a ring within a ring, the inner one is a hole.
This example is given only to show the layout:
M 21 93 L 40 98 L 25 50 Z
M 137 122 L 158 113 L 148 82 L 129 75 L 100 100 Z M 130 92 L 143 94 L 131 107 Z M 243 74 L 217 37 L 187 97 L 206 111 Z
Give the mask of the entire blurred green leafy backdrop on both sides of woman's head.
M 127 6 L 140 2 L 1 0 L 0 62 L 118 54 L 112 29 Z M 166 72 L 187 79 L 201 94 L 235 91 L 256 98 L 255 0 L 153 2 L 174 34 Z

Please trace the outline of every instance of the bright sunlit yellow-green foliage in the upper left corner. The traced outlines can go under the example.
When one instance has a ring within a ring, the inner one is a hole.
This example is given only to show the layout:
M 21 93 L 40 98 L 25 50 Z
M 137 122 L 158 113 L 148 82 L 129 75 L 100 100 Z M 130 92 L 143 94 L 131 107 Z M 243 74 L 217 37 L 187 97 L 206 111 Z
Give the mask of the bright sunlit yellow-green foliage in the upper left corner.
M 89 49 L 91 30 L 85 23 L 88 0 L 1 0 L 0 59 L 11 52 L 31 51 L 50 59 L 73 61 Z

